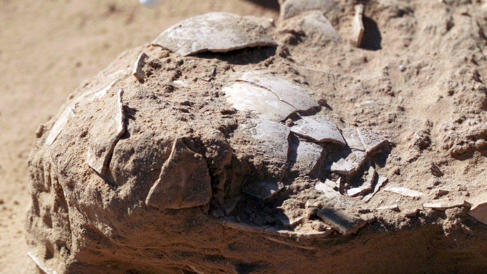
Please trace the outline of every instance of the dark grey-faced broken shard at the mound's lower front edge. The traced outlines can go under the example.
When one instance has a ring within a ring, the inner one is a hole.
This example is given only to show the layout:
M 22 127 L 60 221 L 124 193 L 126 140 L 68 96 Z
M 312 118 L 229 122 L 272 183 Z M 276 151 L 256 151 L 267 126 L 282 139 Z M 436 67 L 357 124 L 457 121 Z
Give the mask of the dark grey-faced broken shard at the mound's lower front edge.
M 316 215 L 342 235 L 356 233 L 367 223 L 351 205 L 345 204 L 329 202 Z

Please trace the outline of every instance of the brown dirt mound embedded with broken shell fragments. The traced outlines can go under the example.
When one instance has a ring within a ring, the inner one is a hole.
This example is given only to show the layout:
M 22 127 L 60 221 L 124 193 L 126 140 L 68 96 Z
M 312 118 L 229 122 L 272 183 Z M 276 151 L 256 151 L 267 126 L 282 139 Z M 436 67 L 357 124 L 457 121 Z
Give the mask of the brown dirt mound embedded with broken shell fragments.
M 318 2 L 186 19 L 78 88 L 29 159 L 39 267 L 485 270 L 480 3 Z

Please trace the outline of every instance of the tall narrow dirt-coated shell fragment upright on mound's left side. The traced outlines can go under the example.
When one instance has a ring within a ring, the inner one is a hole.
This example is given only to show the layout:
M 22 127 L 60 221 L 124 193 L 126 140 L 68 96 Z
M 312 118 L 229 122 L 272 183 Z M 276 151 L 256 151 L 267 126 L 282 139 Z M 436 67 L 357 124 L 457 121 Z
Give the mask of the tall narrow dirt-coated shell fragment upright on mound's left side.
M 122 96 L 123 90 L 120 89 L 110 99 L 110 104 L 100 109 L 90 129 L 87 162 L 102 175 L 118 139 L 125 132 Z

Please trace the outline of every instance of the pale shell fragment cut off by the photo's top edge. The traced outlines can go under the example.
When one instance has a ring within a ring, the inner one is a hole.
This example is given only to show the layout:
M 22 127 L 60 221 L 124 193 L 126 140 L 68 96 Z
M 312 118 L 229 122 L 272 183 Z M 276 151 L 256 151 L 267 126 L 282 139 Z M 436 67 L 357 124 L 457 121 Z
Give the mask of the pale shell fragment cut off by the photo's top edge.
M 280 18 L 291 18 L 308 10 L 319 10 L 326 12 L 335 5 L 335 0 L 286 0 L 281 4 Z

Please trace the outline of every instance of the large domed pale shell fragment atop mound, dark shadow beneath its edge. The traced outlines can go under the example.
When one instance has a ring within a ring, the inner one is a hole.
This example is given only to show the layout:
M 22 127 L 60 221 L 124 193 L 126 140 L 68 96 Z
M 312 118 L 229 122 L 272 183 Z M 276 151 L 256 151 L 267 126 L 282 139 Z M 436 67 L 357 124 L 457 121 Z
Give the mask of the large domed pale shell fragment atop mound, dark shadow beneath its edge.
M 183 56 L 277 46 L 261 25 L 228 12 L 210 12 L 185 19 L 162 32 L 152 44 Z

